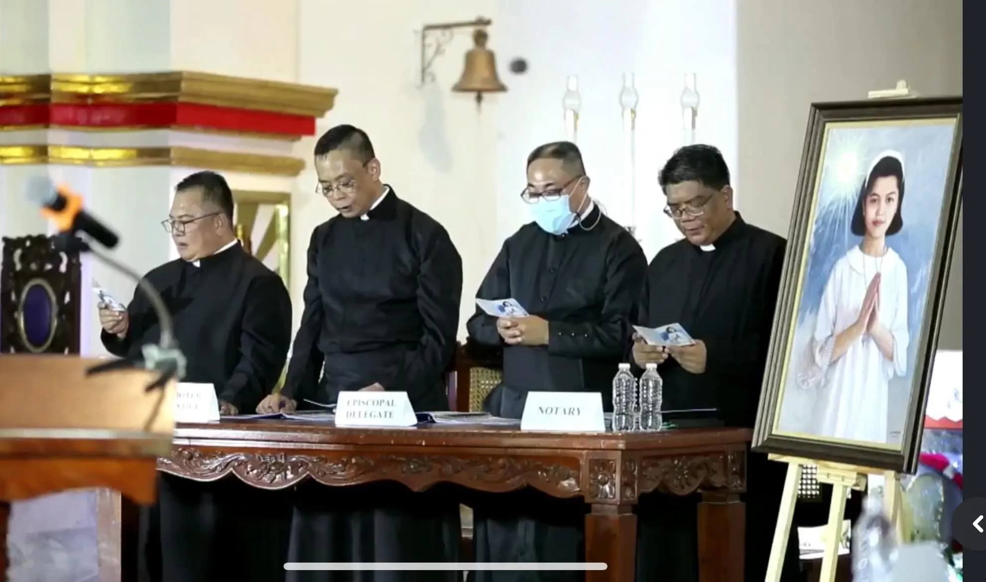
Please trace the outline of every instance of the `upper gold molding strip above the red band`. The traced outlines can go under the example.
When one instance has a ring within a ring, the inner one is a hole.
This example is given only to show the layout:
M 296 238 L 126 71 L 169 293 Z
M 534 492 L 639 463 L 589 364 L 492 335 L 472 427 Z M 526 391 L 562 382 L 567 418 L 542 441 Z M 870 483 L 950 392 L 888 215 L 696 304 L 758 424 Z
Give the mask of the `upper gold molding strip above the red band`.
M 38 102 L 178 102 L 320 118 L 338 90 L 193 71 L 0 76 L 0 106 Z

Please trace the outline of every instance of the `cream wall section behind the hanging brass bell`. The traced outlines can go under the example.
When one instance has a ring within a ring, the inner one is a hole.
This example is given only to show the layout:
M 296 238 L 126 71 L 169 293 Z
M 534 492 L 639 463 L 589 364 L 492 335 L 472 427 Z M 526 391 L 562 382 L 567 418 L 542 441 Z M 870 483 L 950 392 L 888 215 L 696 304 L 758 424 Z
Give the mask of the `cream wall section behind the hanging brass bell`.
M 498 101 L 477 110 L 470 95 L 450 91 L 471 47 L 471 31 L 458 31 L 436 59 L 436 82 L 418 87 L 417 31 L 426 24 L 498 19 L 494 0 L 300 0 L 298 81 L 339 89 L 335 108 L 319 123 L 322 132 L 351 123 L 370 134 L 385 182 L 399 196 L 441 222 L 462 255 L 462 321 L 472 314 L 471 297 L 499 250 L 496 227 L 495 146 Z M 496 45 L 497 33 L 491 32 Z M 510 80 L 507 80 L 510 83 Z M 299 155 L 311 156 L 314 139 Z M 298 181 L 292 216 L 292 297 L 301 305 L 305 255 L 317 224 L 333 211 L 315 192 L 311 166 Z M 301 309 L 295 310 L 295 321 Z

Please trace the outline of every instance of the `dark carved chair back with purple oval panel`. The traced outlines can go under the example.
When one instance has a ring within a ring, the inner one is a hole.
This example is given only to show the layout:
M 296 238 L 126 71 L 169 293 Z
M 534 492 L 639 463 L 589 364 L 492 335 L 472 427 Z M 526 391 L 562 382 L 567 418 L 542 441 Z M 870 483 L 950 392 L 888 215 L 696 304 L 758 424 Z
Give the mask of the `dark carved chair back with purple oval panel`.
M 82 263 L 41 235 L 3 238 L 0 353 L 79 353 Z

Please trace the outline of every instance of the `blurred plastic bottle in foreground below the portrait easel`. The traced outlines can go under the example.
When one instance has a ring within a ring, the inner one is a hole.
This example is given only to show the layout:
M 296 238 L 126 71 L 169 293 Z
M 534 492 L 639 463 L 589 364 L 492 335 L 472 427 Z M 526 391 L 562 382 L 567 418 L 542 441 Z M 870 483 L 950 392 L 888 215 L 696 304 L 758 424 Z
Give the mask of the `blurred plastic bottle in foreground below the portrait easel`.
M 890 520 L 883 514 L 883 501 L 867 495 L 863 513 L 853 530 L 853 582 L 889 582 L 897 555 L 897 542 Z

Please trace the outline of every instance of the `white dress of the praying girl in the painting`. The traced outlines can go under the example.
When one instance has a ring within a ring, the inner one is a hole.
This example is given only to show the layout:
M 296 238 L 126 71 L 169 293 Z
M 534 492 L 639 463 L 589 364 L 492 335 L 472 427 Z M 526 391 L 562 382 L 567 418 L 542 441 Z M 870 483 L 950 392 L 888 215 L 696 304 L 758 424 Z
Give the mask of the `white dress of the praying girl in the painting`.
M 835 336 L 859 316 L 867 287 L 880 272 L 878 321 L 893 337 L 887 359 L 865 332 L 845 354 L 829 363 Z M 853 247 L 832 268 L 818 307 L 811 355 L 819 382 L 811 434 L 886 443 L 890 379 L 907 373 L 907 267 L 887 248 L 883 256 Z

